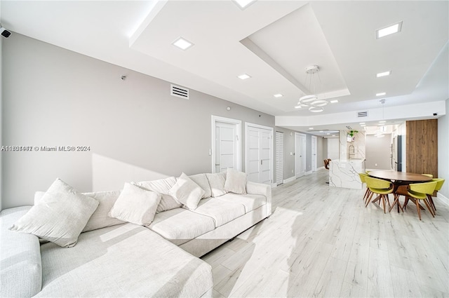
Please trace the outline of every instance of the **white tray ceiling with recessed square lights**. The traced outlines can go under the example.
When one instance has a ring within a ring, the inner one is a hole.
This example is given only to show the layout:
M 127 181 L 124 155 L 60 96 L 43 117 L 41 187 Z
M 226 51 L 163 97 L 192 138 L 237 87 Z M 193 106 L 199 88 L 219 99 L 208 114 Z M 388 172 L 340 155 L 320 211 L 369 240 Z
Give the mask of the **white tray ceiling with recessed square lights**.
M 274 116 L 310 93 L 340 102 L 321 114 L 446 100 L 448 1 L 1 1 L 1 24 L 17 32 Z M 403 22 L 398 34 L 375 30 Z M 182 36 L 188 50 L 171 43 Z M 391 70 L 391 76 L 375 74 Z M 241 81 L 236 76 L 249 74 Z M 305 85 L 305 86 L 304 86 Z M 284 96 L 274 98 L 274 94 Z

